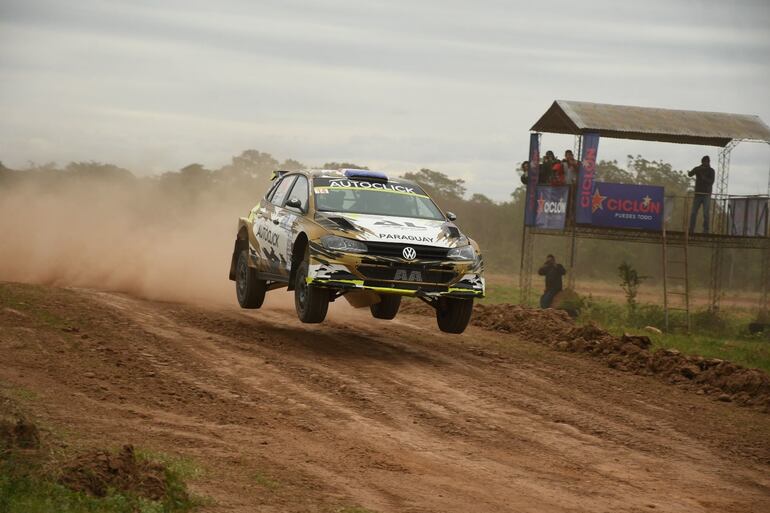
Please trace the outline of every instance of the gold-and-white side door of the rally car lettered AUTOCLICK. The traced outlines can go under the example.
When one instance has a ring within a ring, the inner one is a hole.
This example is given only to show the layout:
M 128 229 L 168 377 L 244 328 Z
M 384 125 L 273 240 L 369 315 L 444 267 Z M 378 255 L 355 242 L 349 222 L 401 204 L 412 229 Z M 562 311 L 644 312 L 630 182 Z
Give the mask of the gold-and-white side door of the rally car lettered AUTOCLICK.
M 282 177 L 271 193 L 257 209 L 254 220 L 254 236 L 259 244 L 258 269 L 266 278 L 288 278 L 289 263 L 287 247 L 290 233 L 286 229 L 283 204 L 289 196 L 297 175 Z

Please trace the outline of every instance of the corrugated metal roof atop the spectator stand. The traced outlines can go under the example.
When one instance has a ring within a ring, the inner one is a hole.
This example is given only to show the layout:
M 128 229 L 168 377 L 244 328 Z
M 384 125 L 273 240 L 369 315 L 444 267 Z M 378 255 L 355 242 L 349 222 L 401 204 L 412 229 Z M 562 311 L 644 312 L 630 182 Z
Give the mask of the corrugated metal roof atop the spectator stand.
M 759 116 L 566 100 L 553 102 L 531 130 L 708 146 L 733 139 L 770 143 L 770 128 Z

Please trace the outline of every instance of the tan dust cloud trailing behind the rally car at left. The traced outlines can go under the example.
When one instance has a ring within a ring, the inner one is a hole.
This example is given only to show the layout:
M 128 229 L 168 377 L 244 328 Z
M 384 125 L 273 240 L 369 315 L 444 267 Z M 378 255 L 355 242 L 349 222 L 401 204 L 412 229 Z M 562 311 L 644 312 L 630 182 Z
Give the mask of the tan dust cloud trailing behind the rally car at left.
M 0 189 L 0 280 L 235 303 L 237 219 L 256 203 L 155 184 L 34 182 Z

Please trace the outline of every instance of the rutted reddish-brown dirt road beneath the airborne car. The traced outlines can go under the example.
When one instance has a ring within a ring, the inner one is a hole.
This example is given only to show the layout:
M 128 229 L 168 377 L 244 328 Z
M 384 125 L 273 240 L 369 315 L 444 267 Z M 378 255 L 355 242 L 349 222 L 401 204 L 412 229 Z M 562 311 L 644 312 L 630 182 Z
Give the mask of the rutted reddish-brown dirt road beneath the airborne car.
M 770 416 L 478 328 L 0 284 L 0 382 L 205 511 L 770 511 Z M 288 294 L 287 294 L 288 295 Z

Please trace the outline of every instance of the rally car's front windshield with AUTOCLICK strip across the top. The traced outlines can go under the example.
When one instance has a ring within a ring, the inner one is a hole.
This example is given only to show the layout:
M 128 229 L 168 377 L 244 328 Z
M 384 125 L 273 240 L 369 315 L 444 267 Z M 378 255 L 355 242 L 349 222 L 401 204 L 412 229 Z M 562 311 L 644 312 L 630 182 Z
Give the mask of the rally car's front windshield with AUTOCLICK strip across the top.
M 347 178 L 313 180 L 316 210 L 443 220 L 433 200 L 420 187 L 400 182 Z

